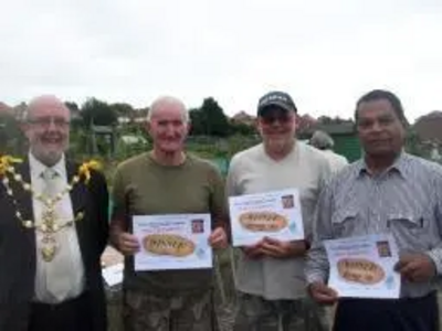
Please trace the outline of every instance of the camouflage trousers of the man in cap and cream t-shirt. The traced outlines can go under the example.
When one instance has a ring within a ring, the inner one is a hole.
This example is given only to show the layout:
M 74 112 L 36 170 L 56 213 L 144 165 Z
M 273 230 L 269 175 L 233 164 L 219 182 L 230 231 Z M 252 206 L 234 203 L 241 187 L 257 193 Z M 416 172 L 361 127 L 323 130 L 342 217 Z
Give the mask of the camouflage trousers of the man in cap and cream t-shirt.
M 265 300 L 240 293 L 234 331 L 328 331 L 329 319 L 312 299 Z

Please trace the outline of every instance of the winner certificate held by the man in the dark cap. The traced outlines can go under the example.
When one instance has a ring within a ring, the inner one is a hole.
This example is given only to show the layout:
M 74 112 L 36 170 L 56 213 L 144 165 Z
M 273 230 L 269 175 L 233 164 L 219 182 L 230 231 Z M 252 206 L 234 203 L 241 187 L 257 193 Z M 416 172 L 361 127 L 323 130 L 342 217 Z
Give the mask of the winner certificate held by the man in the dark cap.
M 229 197 L 233 246 L 254 245 L 263 237 L 304 238 L 297 190 Z

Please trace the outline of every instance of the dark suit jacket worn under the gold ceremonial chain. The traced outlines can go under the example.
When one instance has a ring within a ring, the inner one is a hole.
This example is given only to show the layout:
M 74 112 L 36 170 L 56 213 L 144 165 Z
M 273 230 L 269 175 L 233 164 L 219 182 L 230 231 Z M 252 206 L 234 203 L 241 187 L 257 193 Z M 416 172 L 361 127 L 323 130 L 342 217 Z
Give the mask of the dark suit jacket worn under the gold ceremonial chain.
M 28 159 L 15 164 L 25 182 L 30 182 Z M 67 180 L 77 172 L 78 164 L 66 161 Z M 0 179 L 1 180 L 1 179 Z M 24 220 L 33 220 L 32 197 L 14 181 L 10 181 L 15 201 Z M 101 255 L 108 237 L 108 191 L 99 172 L 92 172 L 87 186 L 81 181 L 71 191 L 74 215 L 85 217 L 75 222 L 85 269 L 86 289 L 96 331 L 106 330 L 106 300 L 101 274 Z M 15 217 L 15 206 L 0 182 L 0 330 L 17 325 L 14 319 L 27 319 L 34 295 L 35 234 Z M 17 327 L 14 327 L 17 328 Z M 19 331 L 19 330 L 13 330 Z

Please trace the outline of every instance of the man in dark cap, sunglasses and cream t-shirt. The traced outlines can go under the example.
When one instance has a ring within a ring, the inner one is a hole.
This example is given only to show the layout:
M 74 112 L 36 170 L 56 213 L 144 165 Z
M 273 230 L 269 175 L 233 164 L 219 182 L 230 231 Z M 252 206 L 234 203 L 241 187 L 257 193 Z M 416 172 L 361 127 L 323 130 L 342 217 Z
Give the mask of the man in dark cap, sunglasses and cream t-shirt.
M 317 149 L 295 139 L 296 106 L 283 92 L 264 95 L 257 106 L 263 142 L 232 158 L 229 195 L 298 189 L 305 241 L 263 238 L 241 247 L 236 288 L 240 309 L 234 330 L 327 330 L 325 314 L 308 299 L 304 256 L 312 236 L 312 217 L 330 170 Z

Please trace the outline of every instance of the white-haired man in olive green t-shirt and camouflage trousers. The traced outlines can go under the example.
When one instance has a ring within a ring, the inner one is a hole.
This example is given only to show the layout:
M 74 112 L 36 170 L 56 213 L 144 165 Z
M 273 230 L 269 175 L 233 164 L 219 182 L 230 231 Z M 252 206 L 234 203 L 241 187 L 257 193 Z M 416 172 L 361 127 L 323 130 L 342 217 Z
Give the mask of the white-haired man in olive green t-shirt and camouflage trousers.
M 125 256 L 126 330 L 217 330 L 212 269 L 135 271 L 139 244 L 133 215 L 210 213 L 214 248 L 225 247 L 223 179 L 212 163 L 183 152 L 188 113 L 171 97 L 156 100 L 148 115 L 154 148 L 120 163 L 114 178 L 112 241 Z

